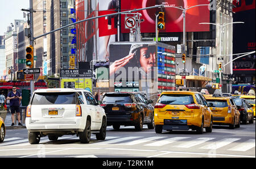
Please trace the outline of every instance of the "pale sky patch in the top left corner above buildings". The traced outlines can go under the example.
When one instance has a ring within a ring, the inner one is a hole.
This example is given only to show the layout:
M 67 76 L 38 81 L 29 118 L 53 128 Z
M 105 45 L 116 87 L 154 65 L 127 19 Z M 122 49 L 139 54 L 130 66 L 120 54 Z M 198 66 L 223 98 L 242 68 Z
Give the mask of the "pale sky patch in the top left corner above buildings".
M 14 24 L 15 19 L 27 20 L 27 16 L 23 18 L 21 9 L 29 9 L 29 7 L 30 0 L 0 0 L 0 36 L 4 35 L 11 23 Z

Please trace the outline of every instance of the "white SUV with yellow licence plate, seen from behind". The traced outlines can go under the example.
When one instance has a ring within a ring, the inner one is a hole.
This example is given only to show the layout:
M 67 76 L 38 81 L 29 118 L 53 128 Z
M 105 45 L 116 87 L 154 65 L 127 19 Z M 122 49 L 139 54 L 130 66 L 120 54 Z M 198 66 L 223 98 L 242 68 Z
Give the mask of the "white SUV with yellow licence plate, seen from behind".
M 89 91 L 39 89 L 27 106 L 26 128 L 31 144 L 39 143 L 42 136 L 56 141 L 64 134 L 76 134 L 82 143 L 89 143 L 91 133 L 105 140 L 106 114 Z

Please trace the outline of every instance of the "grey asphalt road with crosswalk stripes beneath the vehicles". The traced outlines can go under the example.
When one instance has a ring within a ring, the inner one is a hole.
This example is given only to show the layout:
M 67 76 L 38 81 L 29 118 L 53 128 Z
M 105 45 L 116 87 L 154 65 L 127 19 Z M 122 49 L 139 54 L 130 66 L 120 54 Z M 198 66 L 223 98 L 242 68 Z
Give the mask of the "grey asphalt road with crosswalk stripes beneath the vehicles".
M 63 136 L 57 141 L 42 137 L 38 145 L 28 143 L 26 129 L 7 129 L 5 141 L 0 143 L 0 157 L 255 158 L 255 121 L 235 129 L 214 125 L 212 133 L 203 134 L 190 130 L 156 134 L 147 125 L 143 128 L 137 132 L 133 126 L 119 130 L 108 126 L 105 141 L 97 141 L 92 134 L 89 144 L 80 143 L 76 136 Z

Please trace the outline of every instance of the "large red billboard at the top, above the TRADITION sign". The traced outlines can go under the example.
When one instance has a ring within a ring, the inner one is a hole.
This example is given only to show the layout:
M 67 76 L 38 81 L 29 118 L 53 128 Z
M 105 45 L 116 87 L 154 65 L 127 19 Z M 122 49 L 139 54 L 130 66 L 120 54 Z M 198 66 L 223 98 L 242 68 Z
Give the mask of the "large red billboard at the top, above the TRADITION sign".
M 183 32 L 183 15 L 182 10 L 175 9 L 174 7 L 186 8 L 195 5 L 209 4 L 209 0 L 130 0 L 121 1 L 122 10 L 141 9 L 144 7 L 150 7 L 155 5 L 164 5 L 163 8 L 165 15 L 165 29 L 159 30 L 159 32 Z M 168 7 L 169 6 L 169 7 Z M 210 7 L 199 6 L 192 7 L 186 12 L 186 32 L 203 32 L 209 31 L 208 24 L 199 24 L 202 22 L 210 21 Z M 139 11 L 142 14 L 141 19 L 144 22 L 141 23 L 141 32 L 155 32 L 155 14 L 160 9 L 148 9 Z M 129 33 L 130 30 L 125 28 L 125 15 L 121 16 L 122 33 Z

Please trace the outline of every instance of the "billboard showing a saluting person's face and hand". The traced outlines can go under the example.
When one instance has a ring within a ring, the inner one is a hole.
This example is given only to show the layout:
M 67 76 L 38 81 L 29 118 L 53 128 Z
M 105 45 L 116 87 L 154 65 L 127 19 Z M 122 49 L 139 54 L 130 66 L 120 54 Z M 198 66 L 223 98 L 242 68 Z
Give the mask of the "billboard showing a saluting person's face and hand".
M 110 45 L 110 78 L 154 78 L 156 44 L 125 43 Z

